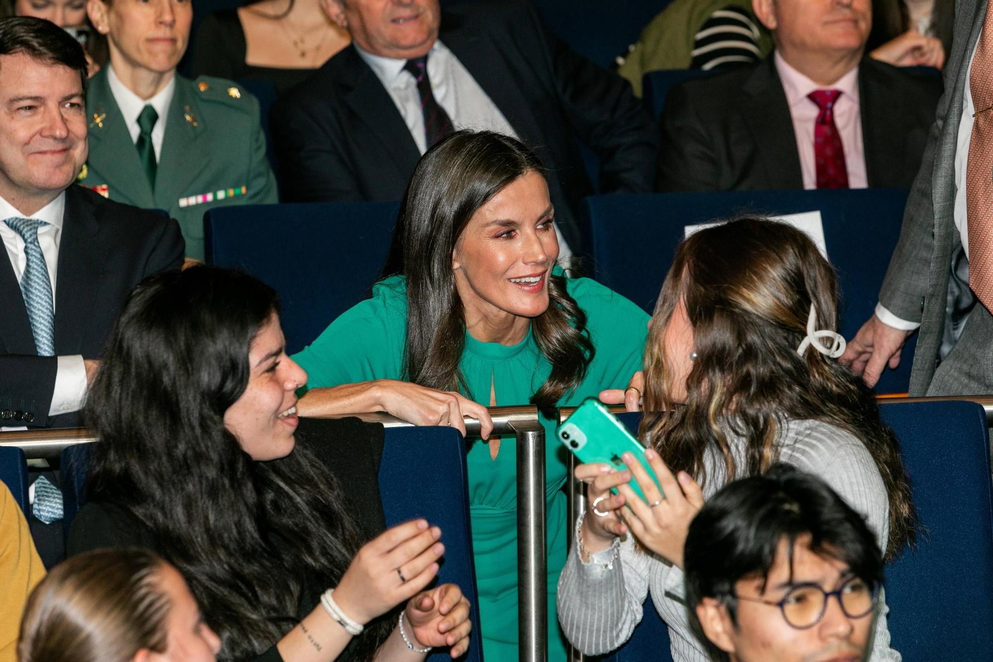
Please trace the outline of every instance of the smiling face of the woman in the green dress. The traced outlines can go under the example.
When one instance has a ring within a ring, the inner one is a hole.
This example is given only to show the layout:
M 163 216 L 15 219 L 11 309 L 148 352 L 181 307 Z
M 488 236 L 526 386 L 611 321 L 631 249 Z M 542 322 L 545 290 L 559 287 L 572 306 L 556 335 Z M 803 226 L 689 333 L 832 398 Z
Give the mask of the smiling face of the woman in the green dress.
M 524 173 L 476 211 L 456 242 L 452 269 L 466 316 L 537 317 L 548 308 L 558 259 L 548 185 Z

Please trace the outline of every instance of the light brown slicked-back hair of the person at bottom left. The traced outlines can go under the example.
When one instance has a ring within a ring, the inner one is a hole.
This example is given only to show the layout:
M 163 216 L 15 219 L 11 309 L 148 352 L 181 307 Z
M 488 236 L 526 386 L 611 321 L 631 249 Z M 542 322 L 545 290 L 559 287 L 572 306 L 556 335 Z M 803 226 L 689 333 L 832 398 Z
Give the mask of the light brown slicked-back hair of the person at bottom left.
M 24 608 L 20 662 L 130 662 L 169 644 L 163 561 L 136 548 L 92 550 L 56 566 Z

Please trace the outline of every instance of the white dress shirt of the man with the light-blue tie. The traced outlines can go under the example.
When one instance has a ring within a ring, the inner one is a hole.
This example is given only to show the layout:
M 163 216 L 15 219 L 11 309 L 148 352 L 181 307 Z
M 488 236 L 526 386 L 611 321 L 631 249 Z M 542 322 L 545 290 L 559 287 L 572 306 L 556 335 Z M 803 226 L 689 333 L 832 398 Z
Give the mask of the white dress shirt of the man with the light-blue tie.
M 49 270 L 49 281 L 52 283 L 52 305 L 56 302 L 56 276 L 59 267 L 59 245 L 62 242 L 63 217 L 66 211 L 66 194 L 50 202 L 35 214 L 22 214 L 13 205 L 0 197 L 0 239 L 14 267 L 14 276 L 18 283 L 24 277 L 28 266 L 28 255 L 24 251 L 24 240 L 6 223 L 6 219 L 19 217 L 36 219 L 49 224 L 38 229 L 38 244 L 45 255 L 45 265 Z M 86 369 L 81 355 L 58 357 L 55 392 L 52 396 L 52 406 L 49 415 L 69 414 L 78 412 L 86 399 Z

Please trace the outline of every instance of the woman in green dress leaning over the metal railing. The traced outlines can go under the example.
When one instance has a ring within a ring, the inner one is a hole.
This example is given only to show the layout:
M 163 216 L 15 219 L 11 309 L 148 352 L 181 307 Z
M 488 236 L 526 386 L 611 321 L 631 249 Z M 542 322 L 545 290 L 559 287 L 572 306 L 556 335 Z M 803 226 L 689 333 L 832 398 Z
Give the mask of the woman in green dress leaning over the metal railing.
M 553 216 L 528 148 L 492 132 L 450 135 L 424 155 L 404 196 L 403 272 L 293 359 L 310 374 L 302 415 L 385 411 L 463 431 L 469 415 L 488 437 L 487 406 L 538 406 L 548 432 L 549 656 L 564 660 L 554 591 L 567 545 L 566 465 L 549 416 L 628 384 L 648 316 L 603 285 L 566 277 Z M 468 456 L 490 662 L 517 659 L 515 447 L 504 440 L 473 443 Z

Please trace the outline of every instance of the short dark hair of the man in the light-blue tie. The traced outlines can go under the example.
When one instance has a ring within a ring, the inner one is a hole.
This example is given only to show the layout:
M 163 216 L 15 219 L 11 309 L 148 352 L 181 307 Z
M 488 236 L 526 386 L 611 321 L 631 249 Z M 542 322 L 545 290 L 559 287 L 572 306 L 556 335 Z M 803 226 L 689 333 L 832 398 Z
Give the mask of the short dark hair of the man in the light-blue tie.
M 79 42 L 52 21 L 33 16 L 0 19 L 0 56 L 26 55 L 46 65 L 62 65 L 79 73 L 86 93 L 86 53 Z

